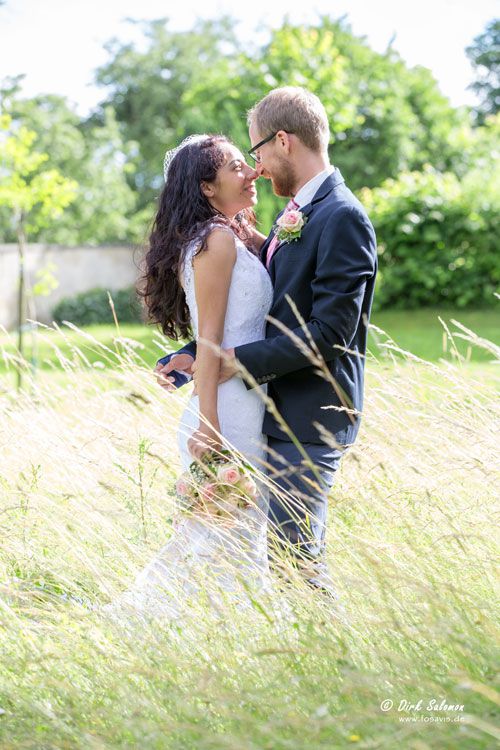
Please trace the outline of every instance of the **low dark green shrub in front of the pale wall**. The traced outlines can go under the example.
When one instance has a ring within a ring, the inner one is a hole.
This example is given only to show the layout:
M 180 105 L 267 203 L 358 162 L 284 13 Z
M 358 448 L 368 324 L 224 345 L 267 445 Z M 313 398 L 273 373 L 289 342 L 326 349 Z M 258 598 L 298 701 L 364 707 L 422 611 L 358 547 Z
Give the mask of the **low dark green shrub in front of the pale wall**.
M 110 294 L 119 323 L 141 321 L 141 306 L 133 287 L 110 291 Z M 54 307 L 52 315 L 56 323 L 68 320 L 77 326 L 113 323 L 108 290 L 100 288 L 65 297 Z

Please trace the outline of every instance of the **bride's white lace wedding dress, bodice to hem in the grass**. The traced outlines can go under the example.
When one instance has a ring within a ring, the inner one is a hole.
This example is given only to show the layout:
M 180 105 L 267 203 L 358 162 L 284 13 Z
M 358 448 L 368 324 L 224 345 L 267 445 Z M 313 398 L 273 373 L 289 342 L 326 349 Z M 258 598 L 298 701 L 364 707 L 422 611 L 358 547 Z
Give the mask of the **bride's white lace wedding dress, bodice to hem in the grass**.
M 271 280 L 259 258 L 236 236 L 235 244 L 237 255 L 222 342 L 225 349 L 264 338 L 265 317 L 273 296 Z M 198 246 L 196 241 L 188 246 L 181 274 L 196 336 L 198 311 L 192 261 Z M 265 386 L 247 390 L 240 378 L 228 380 L 218 390 L 218 416 L 225 444 L 261 470 L 265 459 L 263 393 Z M 184 470 L 193 460 L 187 441 L 198 427 L 198 408 L 198 397 L 192 396 L 180 420 L 178 443 Z M 189 607 L 192 597 L 200 594 L 214 607 L 224 592 L 245 606 L 245 591 L 270 591 L 267 506 L 267 490 L 259 484 L 255 507 L 235 510 L 229 522 L 180 514 L 171 537 L 138 575 L 132 589 L 122 594 L 120 604 L 144 614 L 177 618 Z

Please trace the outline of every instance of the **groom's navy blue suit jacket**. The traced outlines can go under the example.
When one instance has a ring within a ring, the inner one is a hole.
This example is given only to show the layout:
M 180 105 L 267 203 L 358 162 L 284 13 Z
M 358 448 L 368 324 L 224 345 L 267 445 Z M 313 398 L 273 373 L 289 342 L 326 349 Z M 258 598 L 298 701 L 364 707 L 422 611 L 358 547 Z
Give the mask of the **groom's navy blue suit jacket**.
M 338 169 L 301 211 L 307 217 L 301 237 L 280 243 L 269 268 L 274 286 L 269 317 L 288 332 L 270 320 L 266 338 L 236 347 L 235 355 L 257 383 L 268 383 L 268 395 L 301 442 L 323 443 L 326 431 L 348 445 L 356 437 L 363 408 L 364 354 L 377 272 L 375 232 Z M 263 262 L 272 237 L 271 232 L 262 247 Z M 194 354 L 195 347 L 192 342 L 182 351 Z M 315 348 L 333 386 L 308 359 L 307 350 Z M 269 411 L 263 431 L 290 439 Z

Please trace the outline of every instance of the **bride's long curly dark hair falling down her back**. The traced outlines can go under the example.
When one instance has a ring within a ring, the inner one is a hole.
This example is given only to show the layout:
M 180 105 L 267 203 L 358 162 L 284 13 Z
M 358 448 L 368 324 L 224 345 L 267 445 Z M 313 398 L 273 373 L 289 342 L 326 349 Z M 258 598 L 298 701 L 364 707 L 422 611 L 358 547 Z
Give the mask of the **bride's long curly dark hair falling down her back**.
M 189 310 L 179 281 L 188 243 L 196 237 L 201 243 L 198 252 L 205 250 L 215 222 L 231 227 L 252 249 L 254 212 L 244 209 L 231 221 L 210 205 L 201 190 L 201 183 L 214 182 L 224 164 L 224 143 L 231 141 L 222 135 L 210 135 L 183 146 L 170 164 L 158 200 L 137 291 L 144 298 L 149 322 L 158 323 L 170 339 L 191 335 Z

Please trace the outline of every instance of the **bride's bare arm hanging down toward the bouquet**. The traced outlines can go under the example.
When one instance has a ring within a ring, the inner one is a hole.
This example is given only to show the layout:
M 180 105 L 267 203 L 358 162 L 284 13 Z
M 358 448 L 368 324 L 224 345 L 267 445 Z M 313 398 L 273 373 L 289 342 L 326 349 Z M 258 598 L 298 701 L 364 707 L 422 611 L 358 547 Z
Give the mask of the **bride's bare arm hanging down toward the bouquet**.
M 200 400 L 200 423 L 190 438 L 191 454 L 200 458 L 210 445 L 220 447 L 219 418 L 217 415 L 217 389 L 219 384 L 220 355 L 218 347 L 224 336 L 227 299 L 236 246 L 232 234 L 214 230 L 193 261 L 194 287 L 198 309 L 197 383 Z

